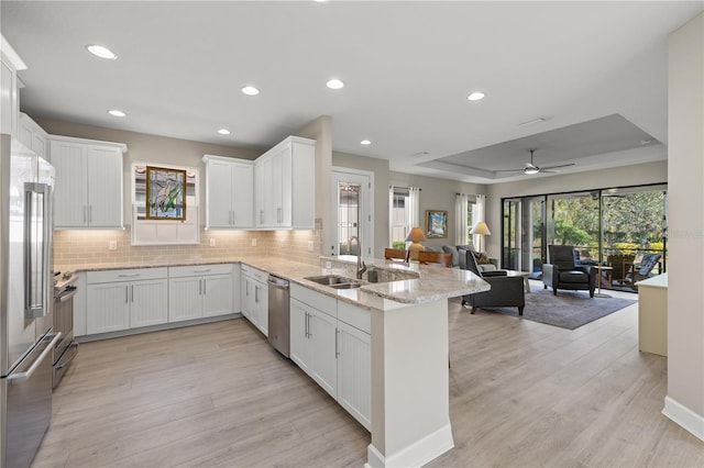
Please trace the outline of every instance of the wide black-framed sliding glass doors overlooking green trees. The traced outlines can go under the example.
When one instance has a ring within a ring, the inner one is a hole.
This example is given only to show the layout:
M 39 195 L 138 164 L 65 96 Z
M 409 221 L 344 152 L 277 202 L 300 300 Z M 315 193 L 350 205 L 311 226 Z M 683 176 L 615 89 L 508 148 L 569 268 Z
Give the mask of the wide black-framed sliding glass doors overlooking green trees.
M 502 207 L 503 268 L 537 278 L 548 246 L 560 244 L 573 245 L 592 265 L 618 255 L 632 268 L 645 254 L 659 254 L 652 272 L 666 270 L 666 185 L 507 198 Z

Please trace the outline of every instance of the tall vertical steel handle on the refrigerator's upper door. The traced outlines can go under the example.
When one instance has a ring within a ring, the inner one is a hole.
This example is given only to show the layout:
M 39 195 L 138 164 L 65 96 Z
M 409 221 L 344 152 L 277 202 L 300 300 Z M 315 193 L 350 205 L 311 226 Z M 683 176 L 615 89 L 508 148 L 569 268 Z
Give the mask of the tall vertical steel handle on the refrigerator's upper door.
M 51 188 L 46 183 L 24 183 L 24 317 L 48 313 L 53 288 L 50 286 L 52 245 Z

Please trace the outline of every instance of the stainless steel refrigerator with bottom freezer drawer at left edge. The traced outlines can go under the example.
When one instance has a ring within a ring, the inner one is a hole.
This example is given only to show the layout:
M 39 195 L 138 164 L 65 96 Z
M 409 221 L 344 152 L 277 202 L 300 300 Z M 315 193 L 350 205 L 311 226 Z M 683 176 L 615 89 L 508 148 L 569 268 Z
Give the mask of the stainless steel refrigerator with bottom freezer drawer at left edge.
M 0 466 L 28 467 L 52 416 L 54 168 L 0 135 Z

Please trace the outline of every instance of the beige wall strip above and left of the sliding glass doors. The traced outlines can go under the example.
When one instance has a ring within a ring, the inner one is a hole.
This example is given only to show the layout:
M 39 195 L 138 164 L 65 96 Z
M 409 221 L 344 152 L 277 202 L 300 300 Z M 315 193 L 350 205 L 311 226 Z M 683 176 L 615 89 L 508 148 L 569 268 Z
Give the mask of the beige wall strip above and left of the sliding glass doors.
M 492 257 L 501 258 L 502 198 L 663 183 L 667 180 L 668 163 L 663 160 L 487 186 L 486 223 L 492 233 L 497 234 L 486 237 L 487 250 Z

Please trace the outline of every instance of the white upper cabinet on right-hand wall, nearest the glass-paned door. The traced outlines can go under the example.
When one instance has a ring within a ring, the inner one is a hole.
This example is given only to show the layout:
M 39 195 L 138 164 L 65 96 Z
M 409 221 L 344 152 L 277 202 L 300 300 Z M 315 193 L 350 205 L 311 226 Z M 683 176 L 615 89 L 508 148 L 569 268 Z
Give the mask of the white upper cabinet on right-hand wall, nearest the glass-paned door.
M 315 227 L 316 141 L 289 136 L 255 161 L 255 226 Z

